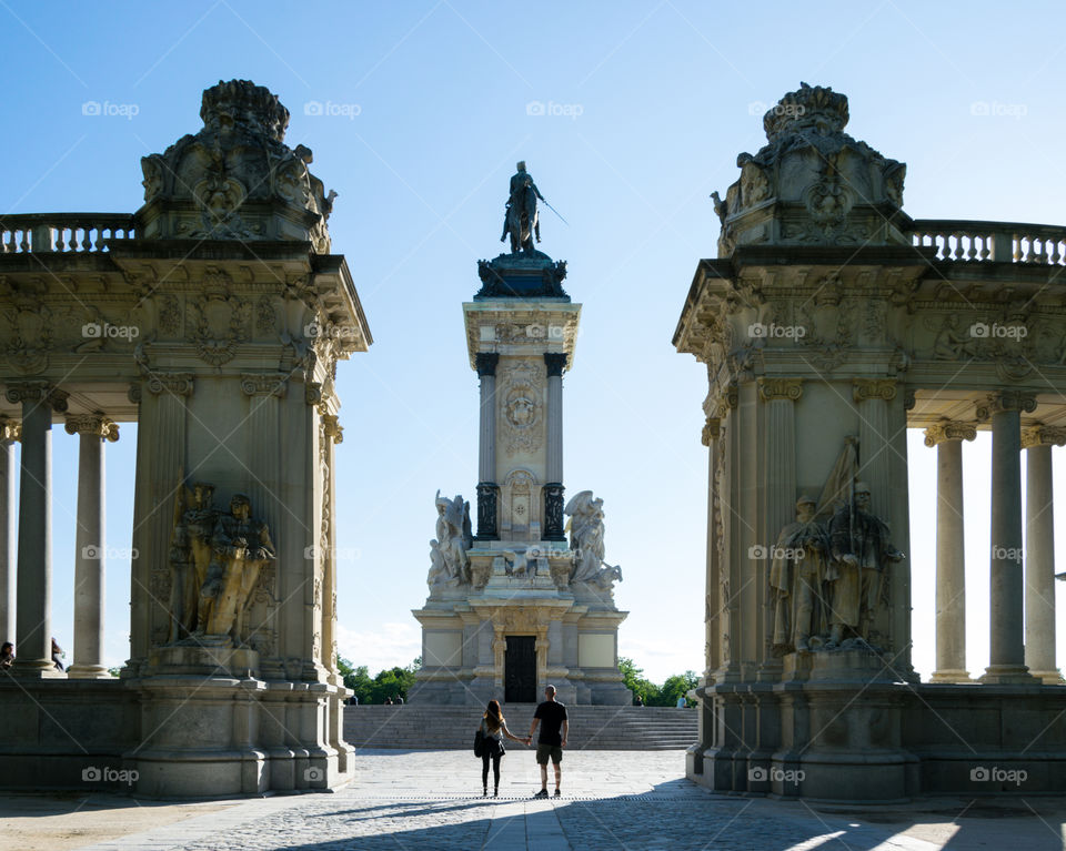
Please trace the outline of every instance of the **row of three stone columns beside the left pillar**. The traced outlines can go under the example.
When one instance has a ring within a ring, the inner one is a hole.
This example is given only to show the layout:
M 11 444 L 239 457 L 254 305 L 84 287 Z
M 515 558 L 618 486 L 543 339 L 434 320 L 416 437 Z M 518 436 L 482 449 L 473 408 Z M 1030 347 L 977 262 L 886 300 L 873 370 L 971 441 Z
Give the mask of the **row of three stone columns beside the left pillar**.
M 22 422 L 0 430 L 0 627 L 16 646 L 12 672 L 24 677 L 59 675 L 52 661 L 51 523 L 52 414 L 66 413 L 68 393 L 48 382 L 7 386 L 7 399 L 22 405 Z M 78 528 L 74 561 L 74 646 L 68 676 L 105 678 L 103 665 L 104 440 L 118 440 L 119 427 L 102 413 L 70 415 L 67 432 L 80 436 Z M 14 548 L 14 443 L 21 442 L 18 470 L 18 547 Z M 17 571 L 12 567 L 17 566 Z

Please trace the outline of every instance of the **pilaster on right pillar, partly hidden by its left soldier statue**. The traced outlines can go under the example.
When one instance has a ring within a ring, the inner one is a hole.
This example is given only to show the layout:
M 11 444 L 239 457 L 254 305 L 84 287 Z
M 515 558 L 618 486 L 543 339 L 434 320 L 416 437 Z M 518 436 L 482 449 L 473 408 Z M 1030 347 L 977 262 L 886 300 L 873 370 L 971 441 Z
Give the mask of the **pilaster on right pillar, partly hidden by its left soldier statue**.
M 781 530 L 796 520 L 796 411 L 795 403 L 803 396 L 803 378 L 758 379 L 758 397 L 766 406 L 764 423 L 765 503 L 763 517 L 763 549 L 758 558 L 757 587 L 766 597 L 758 611 L 763 617 L 763 660 L 760 679 L 777 679 L 782 670 L 781 657 L 768 652 L 773 645 L 774 600 L 770 598 L 770 547 L 777 541 Z

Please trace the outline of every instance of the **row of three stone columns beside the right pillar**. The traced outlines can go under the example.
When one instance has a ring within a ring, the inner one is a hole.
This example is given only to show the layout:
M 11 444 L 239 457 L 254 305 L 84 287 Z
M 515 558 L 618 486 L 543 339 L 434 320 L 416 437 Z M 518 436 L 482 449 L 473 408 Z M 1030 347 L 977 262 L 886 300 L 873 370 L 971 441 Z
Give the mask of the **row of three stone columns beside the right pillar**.
M 988 683 L 1060 683 L 1055 663 L 1055 554 L 1052 446 L 1066 429 L 1022 428 L 1036 399 L 1018 391 L 988 394 L 976 416 L 992 426 L 992 518 Z M 933 682 L 968 682 L 963 513 L 963 440 L 971 423 L 942 419 L 925 432 L 937 449 L 936 670 Z M 1022 450 L 1027 460 L 1023 550 Z M 1023 551 L 1024 571 L 1023 571 Z

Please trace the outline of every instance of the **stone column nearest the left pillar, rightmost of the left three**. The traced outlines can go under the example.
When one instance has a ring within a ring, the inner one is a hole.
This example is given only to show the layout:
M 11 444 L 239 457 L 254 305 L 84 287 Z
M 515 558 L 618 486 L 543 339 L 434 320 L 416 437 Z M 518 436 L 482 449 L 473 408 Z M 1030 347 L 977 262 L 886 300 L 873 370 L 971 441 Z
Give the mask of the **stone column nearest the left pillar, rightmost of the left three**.
M 104 538 L 103 442 L 118 440 L 119 427 L 103 414 L 67 417 L 67 434 L 80 435 L 78 528 L 74 533 L 74 649 L 67 676 L 107 679 L 103 663 Z

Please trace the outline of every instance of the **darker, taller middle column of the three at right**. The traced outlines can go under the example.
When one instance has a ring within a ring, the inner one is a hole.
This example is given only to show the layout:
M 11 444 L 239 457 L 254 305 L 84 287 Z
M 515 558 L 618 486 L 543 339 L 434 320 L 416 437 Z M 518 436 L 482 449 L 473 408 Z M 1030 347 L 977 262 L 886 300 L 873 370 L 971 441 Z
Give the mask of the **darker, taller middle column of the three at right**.
M 1029 683 L 1025 666 L 1022 575 L 1022 412 L 1036 398 L 1019 391 L 990 393 L 977 418 L 992 421 L 992 553 L 988 683 Z

